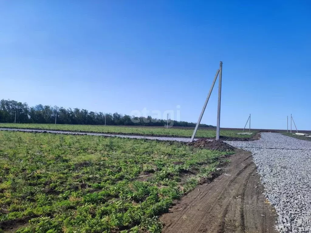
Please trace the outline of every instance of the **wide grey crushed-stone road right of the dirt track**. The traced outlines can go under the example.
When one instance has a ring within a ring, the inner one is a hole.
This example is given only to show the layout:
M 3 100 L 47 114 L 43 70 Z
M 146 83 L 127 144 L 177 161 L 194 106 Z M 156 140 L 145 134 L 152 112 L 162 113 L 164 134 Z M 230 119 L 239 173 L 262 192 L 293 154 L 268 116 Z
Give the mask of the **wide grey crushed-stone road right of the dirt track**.
M 257 141 L 227 141 L 251 151 L 280 232 L 311 233 L 311 142 L 278 133 Z

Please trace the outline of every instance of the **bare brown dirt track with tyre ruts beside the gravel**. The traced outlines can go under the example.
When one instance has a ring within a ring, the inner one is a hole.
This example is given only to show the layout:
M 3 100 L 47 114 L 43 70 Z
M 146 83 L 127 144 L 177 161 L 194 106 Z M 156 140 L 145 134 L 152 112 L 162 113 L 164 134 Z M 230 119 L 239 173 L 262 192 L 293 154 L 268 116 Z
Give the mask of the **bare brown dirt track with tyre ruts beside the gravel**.
M 262 194 L 252 154 L 238 149 L 230 159 L 221 176 L 161 216 L 163 232 L 276 232 L 275 210 Z

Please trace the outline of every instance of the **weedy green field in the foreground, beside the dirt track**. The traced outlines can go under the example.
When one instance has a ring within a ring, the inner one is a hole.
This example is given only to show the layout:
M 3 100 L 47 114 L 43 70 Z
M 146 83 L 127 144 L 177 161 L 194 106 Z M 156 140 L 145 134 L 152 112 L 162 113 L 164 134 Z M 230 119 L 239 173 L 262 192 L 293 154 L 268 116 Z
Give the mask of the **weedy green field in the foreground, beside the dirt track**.
M 177 142 L 10 131 L 0 131 L 0 145 L 0 226 L 17 223 L 20 233 L 160 232 L 158 216 L 228 154 Z

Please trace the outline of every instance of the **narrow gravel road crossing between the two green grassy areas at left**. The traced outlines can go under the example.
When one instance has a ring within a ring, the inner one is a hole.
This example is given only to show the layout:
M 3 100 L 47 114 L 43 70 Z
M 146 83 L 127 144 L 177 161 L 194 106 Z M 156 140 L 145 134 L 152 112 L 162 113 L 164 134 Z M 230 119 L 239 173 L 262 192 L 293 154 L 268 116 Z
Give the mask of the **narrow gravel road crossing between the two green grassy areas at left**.
M 37 133 L 58 133 L 58 134 L 80 134 L 80 135 L 93 135 L 93 136 L 107 136 L 107 137 L 120 137 L 120 138 L 137 138 L 137 139 L 151 139 L 161 141 L 180 141 L 189 142 L 190 138 L 173 138 L 173 137 L 154 137 L 154 136 L 132 136 L 132 135 L 115 135 L 115 134 L 103 134 L 103 133 L 82 133 L 82 132 L 70 132 L 70 131 L 57 131 L 57 130 L 28 130 L 28 129 L 11 129 L 0 128 L 0 130 L 8 131 L 22 131 L 22 132 L 37 132 Z M 197 139 L 194 139 L 197 140 Z

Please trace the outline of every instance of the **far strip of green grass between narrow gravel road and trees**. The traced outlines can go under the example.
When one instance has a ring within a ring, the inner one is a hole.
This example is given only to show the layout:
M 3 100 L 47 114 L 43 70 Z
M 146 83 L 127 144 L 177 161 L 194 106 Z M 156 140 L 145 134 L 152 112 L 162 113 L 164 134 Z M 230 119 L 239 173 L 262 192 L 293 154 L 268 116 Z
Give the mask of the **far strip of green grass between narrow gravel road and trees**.
M 126 133 L 126 134 L 144 134 L 144 135 L 163 135 L 163 136 L 182 136 L 191 137 L 192 129 L 173 129 L 173 128 L 144 128 L 144 127 L 123 127 L 123 126 L 91 126 L 91 125 L 55 125 L 55 124 L 13 124 L 1 123 L 0 127 L 17 127 L 17 128 L 35 128 L 46 130 L 70 130 L 70 131 L 90 131 L 104 133 Z M 240 131 L 220 131 L 220 136 L 228 137 L 251 137 L 252 135 L 236 134 Z M 196 137 L 216 137 L 215 130 L 198 130 Z

